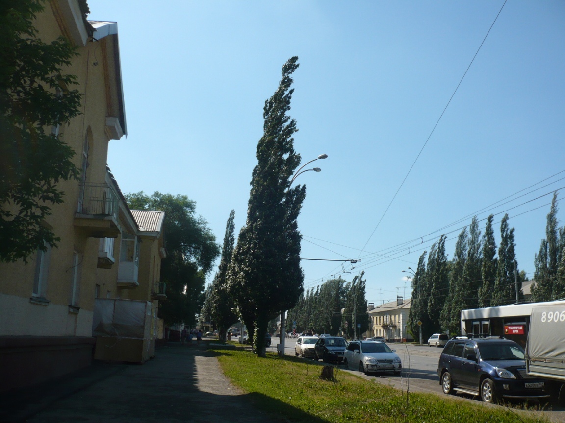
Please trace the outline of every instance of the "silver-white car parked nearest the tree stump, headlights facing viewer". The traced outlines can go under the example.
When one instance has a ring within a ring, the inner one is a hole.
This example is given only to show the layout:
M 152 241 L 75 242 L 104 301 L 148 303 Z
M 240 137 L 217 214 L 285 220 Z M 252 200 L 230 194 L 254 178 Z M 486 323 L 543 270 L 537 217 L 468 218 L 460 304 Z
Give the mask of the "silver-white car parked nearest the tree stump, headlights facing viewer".
M 365 374 L 377 372 L 402 372 L 402 362 L 384 342 L 351 341 L 344 353 L 346 368 L 355 369 Z

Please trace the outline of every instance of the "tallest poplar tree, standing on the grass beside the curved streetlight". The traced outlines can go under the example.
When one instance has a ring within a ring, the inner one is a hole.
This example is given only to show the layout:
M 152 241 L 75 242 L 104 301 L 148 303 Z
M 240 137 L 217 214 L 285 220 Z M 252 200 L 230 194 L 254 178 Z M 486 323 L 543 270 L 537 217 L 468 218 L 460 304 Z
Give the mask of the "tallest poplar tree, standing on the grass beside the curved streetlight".
M 297 68 L 294 56 L 282 67 L 279 87 L 265 102 L 247 221 L 228 270 L 229 290 L 240 314 L 254 316 L 253 345 L 259 356 L 265 355 L 269 320 L 292 309 L 303 292 L 297 219 L 306 186 L 290 187 L 300 155 L 293 146 L 296 122 L 287 114 L 294 91 L 291 76 Z

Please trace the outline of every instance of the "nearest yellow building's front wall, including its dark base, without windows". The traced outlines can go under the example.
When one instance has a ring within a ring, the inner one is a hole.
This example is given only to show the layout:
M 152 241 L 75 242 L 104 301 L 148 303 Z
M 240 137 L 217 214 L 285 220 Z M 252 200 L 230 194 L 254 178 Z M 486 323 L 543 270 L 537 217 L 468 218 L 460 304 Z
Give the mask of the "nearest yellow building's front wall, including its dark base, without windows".
M 57 37 L 85 31 L 82 24 L 63 15 L 55 16 L 65 7 L 79 9 L 78 2 L 50 0 L 45 11 L 37 15 L 38 37 L 50 42 Z M 67 10 L 68 11 L 68 10 Z M 98 42 L 73 37 L 79 56 L 72 58 L 66 69 L 77 76 L 77 88 L 82 94 L 81 114 L 59 130 L 64 142 L 76 152 L 73 162 L 82 168 L 82 151 L 88 138 L 88 169 L 86 182 L 105 182 L 108 142 L 110 135 L 106 117 L 116 116 L 122 107 L 116 102 L 114 42 L 108 36 Z M 121 100 L 120 100 L 121 101 Z M 125 121 L 124 121 L 125 123 Z M 60 237 L 57 248 L 51 249 L 46 290 L 43 298 L 34 297 L 37 254 L 28 263 L 0 264 L 0 391 L 22 384 L 33 384 L 60 376 L 90 364 L 93 338 L 92 317 L 99 239 L 75 226 L 75 212 L 80 186 L 76 180 L 62 181 L 64 203 L 51 206 L 53 215 L 45 220 L 55 236 Z M 73 262 L 77 252 L 78 265 Z M 69 306 L 73 274 L 77 270 L 76 307 Z M 27 369 L 32 369 L 28 374 Z

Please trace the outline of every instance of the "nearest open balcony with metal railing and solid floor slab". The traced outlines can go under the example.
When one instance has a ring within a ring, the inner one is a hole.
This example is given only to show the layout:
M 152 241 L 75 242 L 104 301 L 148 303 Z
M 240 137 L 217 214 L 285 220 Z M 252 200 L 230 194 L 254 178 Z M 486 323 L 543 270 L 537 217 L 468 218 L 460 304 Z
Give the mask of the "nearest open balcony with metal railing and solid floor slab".
M 89 238 L 115 238 L 118 225 L 118 195 L 106 183 L 81 183 L 75 226 Z

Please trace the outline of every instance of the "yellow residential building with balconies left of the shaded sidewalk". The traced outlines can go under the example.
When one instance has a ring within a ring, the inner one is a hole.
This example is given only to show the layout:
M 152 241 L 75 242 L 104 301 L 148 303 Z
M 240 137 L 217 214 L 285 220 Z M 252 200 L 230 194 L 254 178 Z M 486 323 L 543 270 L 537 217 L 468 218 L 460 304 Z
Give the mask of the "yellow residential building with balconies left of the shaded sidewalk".
M 59 184 L 64 203 L 45 220 L 57 248 L 0 265 L 0 391 L 89 365 L 95 298 L 156 307 L 164 298 L 164 216 L 134 217 L 106 166 L 108 143 L 127 134 L 118 25 L 89 22 L 87 13 L 85 0 L 49 0 L 35 23 L 42 41 L 63 36 L 79 53 L 65 72 L 79 82 L 81 114 L 56 130 L 75 150 L 81 180 Z

